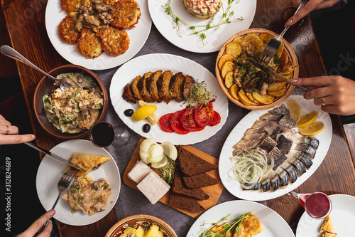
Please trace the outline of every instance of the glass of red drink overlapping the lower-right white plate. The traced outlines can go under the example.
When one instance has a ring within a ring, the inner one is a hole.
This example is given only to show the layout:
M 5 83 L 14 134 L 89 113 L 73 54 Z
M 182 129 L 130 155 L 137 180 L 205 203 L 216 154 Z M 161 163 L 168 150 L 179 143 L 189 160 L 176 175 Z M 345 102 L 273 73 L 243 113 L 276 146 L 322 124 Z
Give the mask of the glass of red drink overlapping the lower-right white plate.
M 290 191 L 290 194 L 300 201 L 307 214 L 312 218 L 325 218 L 332 211 L 332 201 L 327 194 L 322 192 L 298 194 L 295 191 Z

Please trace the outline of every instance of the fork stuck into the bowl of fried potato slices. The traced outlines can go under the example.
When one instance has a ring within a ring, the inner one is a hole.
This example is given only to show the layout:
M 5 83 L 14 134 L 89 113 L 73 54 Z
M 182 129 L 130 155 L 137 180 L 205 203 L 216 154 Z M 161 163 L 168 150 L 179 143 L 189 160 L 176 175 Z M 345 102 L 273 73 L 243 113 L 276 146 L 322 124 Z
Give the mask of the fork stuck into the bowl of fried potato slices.
M 307 4 L 309 0 L 302 0 L 300 6 L 298 6 L 297 10 L 295 11 L 295 14 L 297 11 L 299 11 L 305 4 Z M 293 14 L 293 15 L 295 15 Z M 286 27 L 283 29 L 283 32 L 280 33 L 280 35 L 271 38 L 270 41 L 268 41 L 268 44 L 265 46 L 263 53 L 261 53 L 261 56 L 259 58 L 259 62 L 263 65 L 268 65 L 270 63 L 271 59 L 273 59 L 273 56 L 275 56 L 276 51 L 278 51 L 278 48 L 281 46 L 281 40 L 283 38 L 283 35 L 286 33 L 286 31 L 290 28 L 290 26 Z

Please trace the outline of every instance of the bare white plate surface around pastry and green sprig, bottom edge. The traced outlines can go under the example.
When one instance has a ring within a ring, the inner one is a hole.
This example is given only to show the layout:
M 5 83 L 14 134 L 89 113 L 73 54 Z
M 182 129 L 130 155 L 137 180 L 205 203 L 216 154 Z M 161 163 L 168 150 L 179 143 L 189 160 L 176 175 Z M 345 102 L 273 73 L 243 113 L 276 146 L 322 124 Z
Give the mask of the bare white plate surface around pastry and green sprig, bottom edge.
M 190 231 L 187 233 L 187 237 L 200 236 L 199 233 L 201 233 L 203 223 L 207 223 L 204 227 L 209 228 L 208 223 L 216 223 L 228 214 L 231 214 L 228 218 L 228 222 L 231 223 L 236 217 L 249 211 L 254 211 L 253 213 L 260 220 L 261 226 L 263 226 L 263 232 L 258 233 L 258 237 L 295 236 L 288 223 L 272 209 L 257 202 L 237 200 L 227 201 L 208 209 L 193 223 Z

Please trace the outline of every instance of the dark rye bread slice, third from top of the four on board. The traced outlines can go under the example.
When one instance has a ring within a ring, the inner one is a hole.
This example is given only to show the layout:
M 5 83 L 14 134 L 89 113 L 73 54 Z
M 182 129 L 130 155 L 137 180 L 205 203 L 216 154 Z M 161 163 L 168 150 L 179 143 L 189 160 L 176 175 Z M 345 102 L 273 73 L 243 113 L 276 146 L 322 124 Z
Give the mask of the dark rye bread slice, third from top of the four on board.
M 182 194 L 185 196 L 190 196 L 199 200 L 207 200 L 209 199 L 209 195 L 207 195 L 202 189 L 188 189 L 182 181 L 182 176 L 180 171 L 175 172 L 175 178 L 173 182 L 173 192 L 175 194 Z

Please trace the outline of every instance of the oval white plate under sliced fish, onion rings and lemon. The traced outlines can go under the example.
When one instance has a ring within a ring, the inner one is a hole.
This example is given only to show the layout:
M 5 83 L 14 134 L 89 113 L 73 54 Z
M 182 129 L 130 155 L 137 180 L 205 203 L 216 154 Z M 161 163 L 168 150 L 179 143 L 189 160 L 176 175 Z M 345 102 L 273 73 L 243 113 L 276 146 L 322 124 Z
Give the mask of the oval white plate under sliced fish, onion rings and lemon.
M 278 189 L 276 191 L 259 191 L 259 190 L 243 190 L 238 181 L 231 179 L 228 176 L 228 171 L 231 169 L 231 161 L 230 158 L 232 156 L 232 152 L 234 150 L 233 146 L 238 142 L 241 137 L 244 136 L 244 132 L 250 128 L 253 123 L 258 120 L 258 118 L 268 112 L 268 110 L 253 110 L 249 112 L 246 117 L 244 117 L 237 125 L 231 130 L 231 133 L 224 142 L 222 147 L 222 152 L 219 157 L 219 176 L 221 177 L 223 185 L 226 189 L 238 197 L 239 199 L 246 199 L 252 201 L 262 201 L 275 199 L 279 196 L 283 196 L 283 194 L 287 194 L 289 191 L 296 189 L 297 186 L 303 184 L 322 164 L 325 155 L 328 152 L 330 142 L 332 141 L 332 120 L 330 120 L 330 116 L 327 112 L 323 112 L 320 110 L 320 106 L 317 106 L 313 103 L 313 100 L 305 100 L 302 95 L 291 95 L 287 100 L 285 100 L 281 105 L 286 105 L 288 100 L 296 100 L 301 107 L 302 115 L 305 115 L 312 110 L 318 112 L 317 121 L 322 121 L 324 123 L 324 130 L 314 135 L 312 137 L 316 137 L 320 140 L 320 147 L 317 149 L 317 153 L 315 158 L 312 160 L 313 164 L 310 169 L 302 174 L 301 177 L 298 177 L 295 183 L 288 184 L 285 189 Z M 280 105 L 278 105 L 280 106 Z M 296 128 L 297 132 L 297 128 Z

